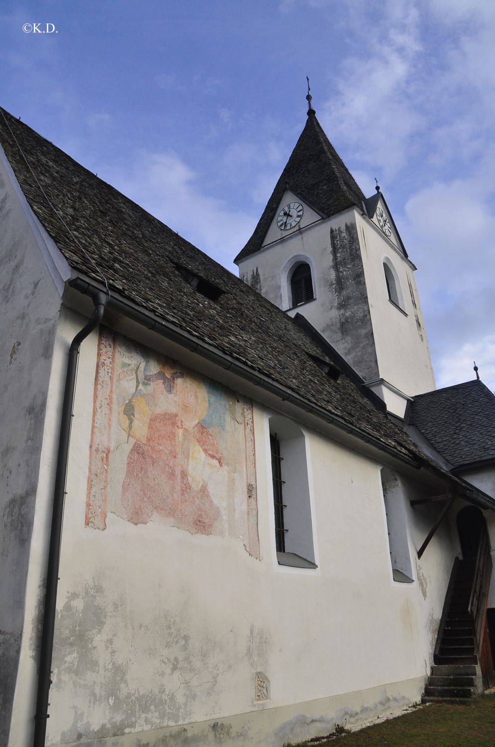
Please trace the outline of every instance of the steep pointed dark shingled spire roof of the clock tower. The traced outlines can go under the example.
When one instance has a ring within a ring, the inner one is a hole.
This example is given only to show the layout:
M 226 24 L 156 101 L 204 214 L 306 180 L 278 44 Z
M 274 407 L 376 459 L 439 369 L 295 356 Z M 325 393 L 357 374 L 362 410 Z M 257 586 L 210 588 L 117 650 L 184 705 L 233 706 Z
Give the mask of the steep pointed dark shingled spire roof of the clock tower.
M 286 187 L 323 217 L 341 213 L 352 205 L 362 208 L 365 195 L 316 119 L 308 112 L 306 126 L 271 193 L 254 233 L 236 256 L 239 261 L 261 249 Z

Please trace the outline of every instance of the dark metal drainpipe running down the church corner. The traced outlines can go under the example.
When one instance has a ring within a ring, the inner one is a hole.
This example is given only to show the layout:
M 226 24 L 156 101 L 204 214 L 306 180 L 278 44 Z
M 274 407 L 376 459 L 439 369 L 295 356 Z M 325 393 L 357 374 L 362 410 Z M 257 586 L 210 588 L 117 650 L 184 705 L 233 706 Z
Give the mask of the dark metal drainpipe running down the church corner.
M 88 323 L 75 335 L 69 348 L 66 385 L 63 392 L 62 418 L 60 422 L 60 439 L 57 453 L 57 471 L 53 509 L 51 514 L 50 544 L 48 547 L 48 566 L 46 570 L 45 609 L 43 612 L 43 630 L 41 637 L 40 670 L 38 674 L 38 692 L 36 716 L 34 716 L 34 747 L 45 747 L 46 719 L 48 716 L 48 694 L 51 685 L 51 656 L 57 610 L 57 585 L 60 566 L 60 540 L 62 538 L 63 504 L 65 501 L 67 464 L 69 460 L 69 439 L 74 404 L 75 377 L 78 371 L 79 347 L 81 342 L 101 322 L 109 296 L 98 292 L 93 297 L 95 310 Z

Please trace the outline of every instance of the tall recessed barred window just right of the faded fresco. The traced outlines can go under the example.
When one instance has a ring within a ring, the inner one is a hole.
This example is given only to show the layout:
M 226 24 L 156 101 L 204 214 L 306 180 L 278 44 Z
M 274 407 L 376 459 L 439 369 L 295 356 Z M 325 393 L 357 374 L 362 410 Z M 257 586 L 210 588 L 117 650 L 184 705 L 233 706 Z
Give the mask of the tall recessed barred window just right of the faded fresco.
M 275 547 L 280 565 L 316 568 L 306 439 L 287 418 L 270 418 Z

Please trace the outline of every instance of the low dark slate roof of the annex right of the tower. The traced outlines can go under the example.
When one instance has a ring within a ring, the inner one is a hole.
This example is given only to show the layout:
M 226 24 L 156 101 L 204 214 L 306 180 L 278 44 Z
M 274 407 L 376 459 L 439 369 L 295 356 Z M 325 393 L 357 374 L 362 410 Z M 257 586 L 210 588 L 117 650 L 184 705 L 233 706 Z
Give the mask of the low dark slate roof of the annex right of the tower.
M 495 459 L 495 394 L 478 379 L 418 394 L 409 423 L 453 467 Z

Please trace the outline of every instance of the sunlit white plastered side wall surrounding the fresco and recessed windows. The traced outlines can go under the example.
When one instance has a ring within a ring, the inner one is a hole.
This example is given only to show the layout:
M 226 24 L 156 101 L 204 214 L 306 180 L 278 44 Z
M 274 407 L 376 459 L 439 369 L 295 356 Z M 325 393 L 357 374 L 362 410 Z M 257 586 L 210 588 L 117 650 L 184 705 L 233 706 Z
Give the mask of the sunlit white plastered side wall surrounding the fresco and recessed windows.
M 58 366 L 82 322 L 66 311 L 57 333 L 42 457 L 47 492 L 60 417 Z M 93 333 L 78 370 L 47 745 L 91 738 L 124 745 L 124 734 L 133 733 L 155 734 L 150 743 L 158 744 L 176 725 L 221 719 L 227 729 L 244 714 L 244 731 L 225 744 L 259 744 L 253 735 L 263 723 L 263 743 L 280 747 L 331 731 L 329 713 L 359 722 L 417 699 L 453 562 L 447 527 L 413 561 L 414 583 L 394 582 L 382 465 L 306 429 L 318 570 L 275 572 L 268 419 L 256 404 L 262 560 L 240 540 L 153 521 L 134 526 L 111 513 L 106 530 L 85 527 L 96 351 Z M 409 508 L 423 486 L 406 480 L 404 490 L 414 558 L 433 517 Z M 34 610 L 27 626 L 30 619 Z M 27 744 L 31 731 L 36 671 L 27 650 L 23 666 L 10 747 Z M 255 700 L 256 672 L 268 678 L 268 701 Z M 257 719 L 260 709 L 265 715 Z M 311 728 L 305 714 L 312 714 Z

